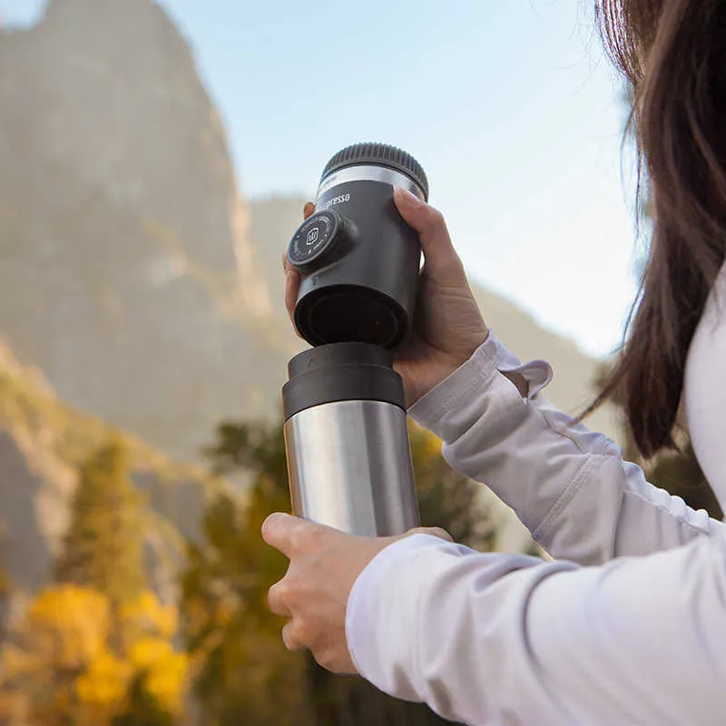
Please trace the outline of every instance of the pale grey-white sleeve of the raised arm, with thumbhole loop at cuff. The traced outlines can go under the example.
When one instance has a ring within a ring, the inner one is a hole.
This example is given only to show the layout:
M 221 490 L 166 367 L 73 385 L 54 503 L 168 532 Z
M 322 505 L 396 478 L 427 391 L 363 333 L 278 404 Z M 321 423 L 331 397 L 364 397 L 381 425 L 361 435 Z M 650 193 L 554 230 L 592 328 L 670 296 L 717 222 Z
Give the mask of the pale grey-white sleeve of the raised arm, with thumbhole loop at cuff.
M 527 397 L 508 371 L 527 379 Z M 551 376 L 544 361 L 520 365 L 490 333 L 409 414 L 444 440 L 451 466 L 490 486 L 554 557 L 600 564 L 724 531 L 705 511 L 649 484 L 608 437 L 544 400 Z

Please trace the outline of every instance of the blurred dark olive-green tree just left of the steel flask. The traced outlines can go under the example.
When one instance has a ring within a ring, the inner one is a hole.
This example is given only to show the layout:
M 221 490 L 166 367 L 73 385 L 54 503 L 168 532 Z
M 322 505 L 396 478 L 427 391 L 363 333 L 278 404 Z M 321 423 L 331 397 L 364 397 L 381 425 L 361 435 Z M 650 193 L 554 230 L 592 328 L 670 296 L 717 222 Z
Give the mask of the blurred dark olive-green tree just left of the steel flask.
M 281 434 L 222 426 L 208 453 L 215 473 L 254 478 L 244 501 L 229 493 L 211 499 L 205 542 L 190 544 L 182 577 L 182 617 L 204 722 L 316 723 L 304 688 L 306 659 L 282 647 L 283 621 L 267 607 L 267 590 L 287 563 L 260 537 L 271 511 L 289 509 Z

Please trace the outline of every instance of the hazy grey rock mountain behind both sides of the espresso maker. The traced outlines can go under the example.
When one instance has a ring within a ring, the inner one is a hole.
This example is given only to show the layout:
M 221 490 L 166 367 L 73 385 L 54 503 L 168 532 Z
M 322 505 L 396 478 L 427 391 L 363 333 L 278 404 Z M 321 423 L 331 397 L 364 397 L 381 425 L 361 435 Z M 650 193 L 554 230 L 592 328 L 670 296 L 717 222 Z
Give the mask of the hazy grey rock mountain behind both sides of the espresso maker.
M 279 417 L 302 347 L 280 256 L 301 207 L 240 199 L 190 48 L 152 0 L 52 0 L 0 31 L 0 338 L 71 407 L 192 459 L 222 419 Z M 579 407 L 595 362 L 476 293 Z

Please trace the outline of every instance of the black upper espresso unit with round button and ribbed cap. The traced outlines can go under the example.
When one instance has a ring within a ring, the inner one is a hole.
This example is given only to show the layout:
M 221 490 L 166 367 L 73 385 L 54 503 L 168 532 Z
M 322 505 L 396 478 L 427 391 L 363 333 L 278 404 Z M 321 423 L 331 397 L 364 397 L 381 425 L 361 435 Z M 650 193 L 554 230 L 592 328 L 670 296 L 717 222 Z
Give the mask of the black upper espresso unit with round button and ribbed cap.
M 407 338 L 421 250 L 396 209 L 395 185 L 427 200 L 421 165 L 394 146 L 354 144 L 326 165 L 316 211 L 288 249 L 301 276 L 295 325 L 311 345 L 397 348 Z

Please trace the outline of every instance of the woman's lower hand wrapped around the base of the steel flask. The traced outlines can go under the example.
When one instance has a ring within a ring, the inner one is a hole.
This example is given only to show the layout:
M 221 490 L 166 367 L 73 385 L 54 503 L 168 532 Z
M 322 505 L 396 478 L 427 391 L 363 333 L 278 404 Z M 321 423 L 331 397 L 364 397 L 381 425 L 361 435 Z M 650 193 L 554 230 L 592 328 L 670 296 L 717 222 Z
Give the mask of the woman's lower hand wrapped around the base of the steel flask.
M 438 528 L 413 529 L 397 537 L 359 537 L 295 516 L 270 515 L 262 525 L 262 537 L 289 558 L 288 573 L 270 587 L 268 596 L 270 610 L 290 618 L 282 629 L 285 647 L 309 648 L 329 671 L 357 672 L 346 640 L 350 590 L 384 547 L 413 534 L 451 541 Z

